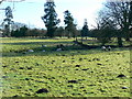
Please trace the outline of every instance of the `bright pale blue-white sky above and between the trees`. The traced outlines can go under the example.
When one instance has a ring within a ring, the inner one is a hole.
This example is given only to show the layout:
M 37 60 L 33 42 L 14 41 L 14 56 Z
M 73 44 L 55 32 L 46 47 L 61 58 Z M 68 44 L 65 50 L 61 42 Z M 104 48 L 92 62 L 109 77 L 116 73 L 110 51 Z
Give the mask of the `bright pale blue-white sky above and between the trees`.
M 25 23 L 29 28 L 46 29 L 41 16 L 44 15 L 44 3 L 46 0 L 25 0 L 22 2 L 2 2 L 1 8 L 10 6 L 13 9 L 13 21 Z M 64 11 L 69 10 L 77 23 L 77 29 L 81 29 L 84 20 L 87 19 L 89 29 L 96 26 L 98 11 L 102 8 L 105 0 L 54 0 L 55 10 L 61 19 L 59 25 L 64 25 Z M 0 22 L 4 19 L 4 11 L 0 10 Z

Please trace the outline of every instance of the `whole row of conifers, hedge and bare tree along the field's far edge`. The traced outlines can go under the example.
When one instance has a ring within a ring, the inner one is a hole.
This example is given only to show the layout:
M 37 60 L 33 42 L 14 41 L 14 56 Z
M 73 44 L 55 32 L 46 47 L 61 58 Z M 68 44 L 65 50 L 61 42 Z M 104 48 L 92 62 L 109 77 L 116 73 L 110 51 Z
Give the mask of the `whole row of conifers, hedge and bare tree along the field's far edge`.
M 130 2 L 106 2 L 103 9 L 100 10 L 97 16 L 97 26 L 89 30 L 87 20 L 80 30 L 77 30 L 77 24 L 74 22 L 74 16 L 66 10 L 64 11 L 64 25 L 58 26 L 61 20 L 57 19 L 55 11 L 55 2 L 47 0 L 44 4 L 44 15 L 41 16 L 46 30 L 20 28 L 11 32 L 11 36 L 67 36 L 67 37 L 97 37 L 105 45 L 111 41 L 111 37 L 117 37 L 118 45 L 123 46 L 123 38 L 128 42 L 132 37 L 132 1 Z M 6 28 L 6 35 L 10 36 L 9 26 Z

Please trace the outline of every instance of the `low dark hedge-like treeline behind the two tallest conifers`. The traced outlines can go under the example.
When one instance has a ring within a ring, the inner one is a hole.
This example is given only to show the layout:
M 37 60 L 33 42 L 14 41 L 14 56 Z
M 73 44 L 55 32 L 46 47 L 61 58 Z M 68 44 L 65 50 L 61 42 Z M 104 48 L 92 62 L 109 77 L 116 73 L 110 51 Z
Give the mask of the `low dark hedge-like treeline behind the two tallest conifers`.
M 76 30 L 76 32 L 74 34 L 69 34 L 67 33 L 67 31 L 63 28 L 59 26 L 55 30 L 54 36 L 58 36 L 58 37 L 75 37 L 75 36 L 81 36 L 81 30 Z M 11 31 L 11 36 L 12 37 L 25 37 L 25 36 L 42 36 L 42 37 L 48 37 L 47 35 L 47 30 L 43 30 L 43 29 L 28 29 L 26 26 L 22 26 L 18 30 L 12 30 Z

